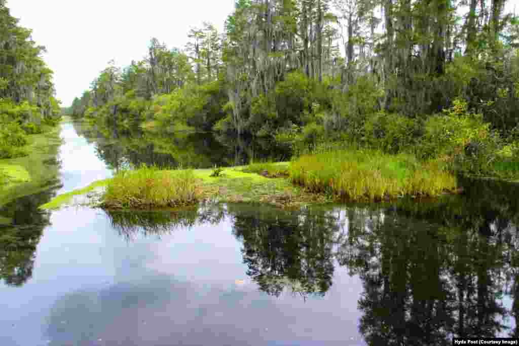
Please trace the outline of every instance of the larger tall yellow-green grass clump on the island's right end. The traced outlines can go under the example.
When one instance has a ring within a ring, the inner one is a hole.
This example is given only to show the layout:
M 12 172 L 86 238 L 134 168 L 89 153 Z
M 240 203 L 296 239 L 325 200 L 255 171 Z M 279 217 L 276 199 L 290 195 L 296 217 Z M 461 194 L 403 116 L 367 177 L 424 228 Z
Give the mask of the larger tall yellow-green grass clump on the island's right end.
M 379 201 L 403 195 L 435 196 L 456 188 L 456 178 L 440 160 L 373 149 L 340 149 L 306 154 L 290 165 L 292 183 L 343 200 Z

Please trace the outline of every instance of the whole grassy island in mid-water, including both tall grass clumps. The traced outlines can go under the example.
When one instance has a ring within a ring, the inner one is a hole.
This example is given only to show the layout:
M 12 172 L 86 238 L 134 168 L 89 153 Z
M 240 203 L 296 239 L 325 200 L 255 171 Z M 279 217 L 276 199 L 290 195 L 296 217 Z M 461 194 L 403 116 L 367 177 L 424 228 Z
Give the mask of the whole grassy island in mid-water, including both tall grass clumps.
M 162 209 L 200 201 L 307 202 L 377 201 L 404 195 L 437 196 L 457 188 L 438 161 L 379 151 L 333 151 L 303 155 L 292 162 L 253 163 L 219 169 L 123 170 L 112 179 L 58 196 L 43 205 L 56 209 L 104 186 L 97 205 L 105 209 Z

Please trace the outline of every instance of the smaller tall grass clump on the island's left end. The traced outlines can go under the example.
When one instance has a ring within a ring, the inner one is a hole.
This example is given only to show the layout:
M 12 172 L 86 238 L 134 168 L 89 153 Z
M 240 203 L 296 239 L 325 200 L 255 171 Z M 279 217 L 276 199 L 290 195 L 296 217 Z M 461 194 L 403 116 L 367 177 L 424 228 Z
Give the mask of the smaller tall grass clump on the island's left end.
M 108 209 L 151 209 L 194 204 L 201 189 L 192 170 L 164 171 L 142 165 L 118 172 L 108 183 L 103 206 Z

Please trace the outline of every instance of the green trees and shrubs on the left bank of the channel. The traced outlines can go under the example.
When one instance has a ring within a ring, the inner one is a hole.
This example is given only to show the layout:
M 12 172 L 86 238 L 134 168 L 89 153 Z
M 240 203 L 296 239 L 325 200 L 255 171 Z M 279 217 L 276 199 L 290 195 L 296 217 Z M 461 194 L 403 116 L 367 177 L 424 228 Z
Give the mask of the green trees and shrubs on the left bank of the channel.
M 26 135 L 58 121 L 59 101 L 44 52 L 0 0 L 0 159 L 26 155 Z

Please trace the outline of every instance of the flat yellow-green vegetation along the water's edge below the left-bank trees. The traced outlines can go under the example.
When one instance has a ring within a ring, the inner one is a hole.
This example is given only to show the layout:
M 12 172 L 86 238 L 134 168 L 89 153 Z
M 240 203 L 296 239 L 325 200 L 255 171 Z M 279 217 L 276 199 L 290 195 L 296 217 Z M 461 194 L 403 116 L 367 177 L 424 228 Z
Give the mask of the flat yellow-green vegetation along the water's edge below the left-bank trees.
M 0 160 L 2 171 L 9 171 L 19 178 L 13 181 L 4 176 L 0 181 L 0 205 L 57 184 L 59 162 L 56 158 L 61 145 L 60 129 L 57 126 L 45 133 L 29 135 L 29 144 L 23 147 L 28 156 Z

